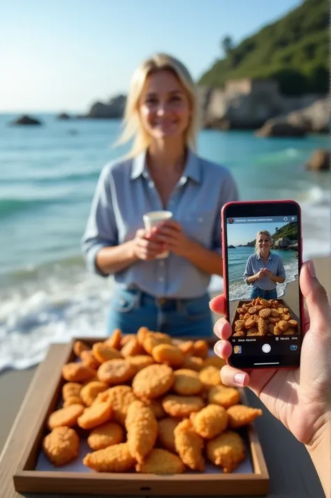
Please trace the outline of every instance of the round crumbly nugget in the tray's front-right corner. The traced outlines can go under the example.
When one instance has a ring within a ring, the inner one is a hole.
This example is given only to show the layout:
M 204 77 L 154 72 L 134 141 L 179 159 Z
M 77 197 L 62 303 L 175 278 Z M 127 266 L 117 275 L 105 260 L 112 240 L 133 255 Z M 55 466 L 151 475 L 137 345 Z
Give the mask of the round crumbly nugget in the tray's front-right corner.
M 246 457 L 242 438 L 236 432 L 228 430 L 207 442 L 207 457 L 214 464 L 223 467 L 228 474 Z

